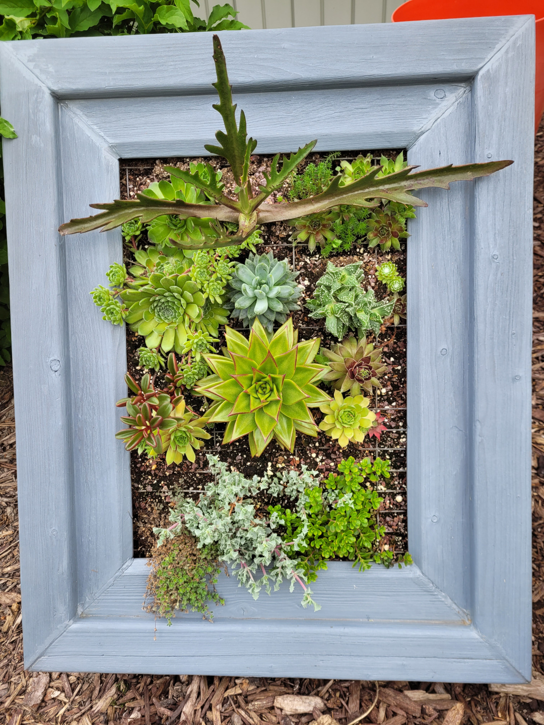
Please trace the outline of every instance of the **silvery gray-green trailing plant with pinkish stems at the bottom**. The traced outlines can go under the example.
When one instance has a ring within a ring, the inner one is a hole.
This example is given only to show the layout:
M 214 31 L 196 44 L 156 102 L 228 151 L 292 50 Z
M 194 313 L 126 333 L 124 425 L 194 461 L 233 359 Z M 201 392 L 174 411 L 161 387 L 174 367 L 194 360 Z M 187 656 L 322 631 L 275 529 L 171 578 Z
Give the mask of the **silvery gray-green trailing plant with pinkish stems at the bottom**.
M 249 481 L 237 471 L 227 471 L 226 464 L 217 457 L 208 455 L 210 471 L 215 480 L 205 485 L 198 501 L 180 498 L 170 511 L 173 525 L 168 529 L 153 529 L 158 536 L 158 546 L 169 539 L 176 540 L 177 532 L 185 527 L 197 538 L 199 547 L 213 546 L 221 562 L 228 564 L 241 586 L 248 589 L 256 600 L 262 589 L 271 594 L 279 589 L 281 581 L 287 579 L 290 589 L 298 582 L 304 594 L 302 606 L 320 606 L 312 599 L 305 573 L 299 566 L 297 544 L 302 545 L 301 532 L 290 547 L 289 553 L 279 533 L 279 517 L 263 517 L 257 509 L 257 497 L 265 491 L 267 495 L 278 495 L 300 500 L 306 488 L 317 486 L 315 471 L 282 471 L 280 476 L 270 479 L 254 476 Z M 264 512 L 263 512 L 264 513 Z M 292 552 L 292 553 L 290 553 Z M 255 576 L 254 576 L 255 575 Z

